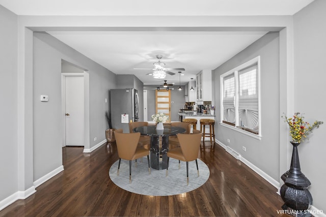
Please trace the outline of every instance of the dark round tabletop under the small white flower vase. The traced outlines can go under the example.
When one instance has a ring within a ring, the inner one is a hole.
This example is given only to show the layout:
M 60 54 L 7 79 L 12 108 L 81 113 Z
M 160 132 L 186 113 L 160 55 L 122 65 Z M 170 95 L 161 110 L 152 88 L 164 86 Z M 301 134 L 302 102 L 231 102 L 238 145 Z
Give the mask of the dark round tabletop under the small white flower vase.
M 171 135 L 177 135 L 178 133 L 185 133 L 185 129 L 180 127 L 174 127 L 171 125 L 164 126 L 164 130 L 156 130 L 155 125 L 150 126 L 141 126 L 133 129 L 133 132 L 141 133 L 141 135 L 147 135 L 147 136 L 171 136 Z

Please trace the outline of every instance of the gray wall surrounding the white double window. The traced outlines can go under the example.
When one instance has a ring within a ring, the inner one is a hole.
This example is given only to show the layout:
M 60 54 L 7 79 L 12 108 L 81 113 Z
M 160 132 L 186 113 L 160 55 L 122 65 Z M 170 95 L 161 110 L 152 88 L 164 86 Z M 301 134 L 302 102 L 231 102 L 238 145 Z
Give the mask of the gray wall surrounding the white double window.
M 260 55 L 261 140 L 219 124 L 220 75 Z M 256 167 L 279 180 L 279 33 L 268 33 L 213 71 L 216 108 L 216 138 Z M 230 139 L 230 143 L 227 142 Z M 247 151 L 242 150 L 242 146 Z

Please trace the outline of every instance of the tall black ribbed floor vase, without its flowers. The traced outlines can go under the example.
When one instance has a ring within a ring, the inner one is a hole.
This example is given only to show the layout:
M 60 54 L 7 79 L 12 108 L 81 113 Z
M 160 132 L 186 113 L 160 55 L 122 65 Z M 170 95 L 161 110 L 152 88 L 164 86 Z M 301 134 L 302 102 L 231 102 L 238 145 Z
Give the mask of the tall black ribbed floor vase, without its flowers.
M 282 176 L 284 184 L 281 187 L 281 197 L 284 201 L 282 208 L 288 210 L 293 216 L 311 216 L 307 209 L 312 204 L 312 196 L 308 191 L 311 184 L 309 179 L 301 172 L 299 156 L 297 153 L 298 142 L 293 145 L 290 170 Z

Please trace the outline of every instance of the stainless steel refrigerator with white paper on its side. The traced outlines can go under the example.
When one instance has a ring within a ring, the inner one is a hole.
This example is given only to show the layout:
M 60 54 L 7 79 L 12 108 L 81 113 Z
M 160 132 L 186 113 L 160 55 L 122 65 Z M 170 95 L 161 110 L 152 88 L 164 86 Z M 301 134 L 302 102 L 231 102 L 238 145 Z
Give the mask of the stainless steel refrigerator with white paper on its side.
M 111 89 L 110 95 L 112 127 L 129 133 L 128 123 L 138 121 L 138 91 L 134 88 Z

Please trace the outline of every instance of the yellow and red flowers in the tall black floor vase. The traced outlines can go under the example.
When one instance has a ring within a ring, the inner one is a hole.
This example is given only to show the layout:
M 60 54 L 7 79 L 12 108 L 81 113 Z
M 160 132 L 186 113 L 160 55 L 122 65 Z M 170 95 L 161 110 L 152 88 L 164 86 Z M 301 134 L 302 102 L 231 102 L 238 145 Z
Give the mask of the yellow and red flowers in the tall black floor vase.
M 304 121 L 304 118 L 305 117 L 300 114 L 300 112 L 295 112 L 293 117 L 289 118 L 284 114 L 284 121 L 287 122 L 290 128 L 290 136 L 293 142 L 301 143 L 305 138 L 309 140 L 308 135 L 312 133 L 312 130 L 319 128 L 319 125 L 323 123 L 323 121 L 316 120 L 310 125 L 310 123 Z

